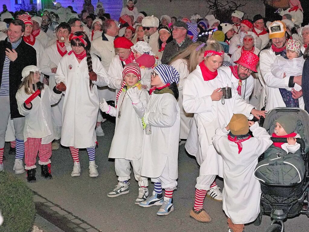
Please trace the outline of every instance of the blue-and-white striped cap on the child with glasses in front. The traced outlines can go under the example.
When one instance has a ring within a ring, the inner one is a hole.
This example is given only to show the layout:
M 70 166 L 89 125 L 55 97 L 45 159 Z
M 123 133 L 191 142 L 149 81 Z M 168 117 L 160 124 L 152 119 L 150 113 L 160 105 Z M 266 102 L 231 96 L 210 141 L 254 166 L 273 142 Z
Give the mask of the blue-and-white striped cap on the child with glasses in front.
M 179 72 L 171 65 L 160 64 L 154 68 L 154 71 L 158 73 L 164 84 L 172 84 L 173 82 L 178 84 L 179 82 Z

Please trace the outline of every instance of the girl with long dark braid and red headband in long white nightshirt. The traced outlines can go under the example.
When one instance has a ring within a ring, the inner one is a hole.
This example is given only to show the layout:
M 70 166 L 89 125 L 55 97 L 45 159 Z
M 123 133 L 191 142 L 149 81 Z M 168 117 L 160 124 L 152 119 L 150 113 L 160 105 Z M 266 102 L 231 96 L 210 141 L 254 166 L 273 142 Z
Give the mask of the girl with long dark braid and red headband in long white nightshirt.
M 99 58 L 90 54 L 90 41 L 84 32 L 75 32 L 72 51 L 59 62 L 56 83 L 63 82 L 65 92 L 62 108 L 61 145 L 70 147 L 74 161 L 71 176 L 80 176 L 79 148 L 89 156 L 89 176 L 98 176 L 95 165 L 95 124 L 99 110 L 97 86 L 109 84 Z

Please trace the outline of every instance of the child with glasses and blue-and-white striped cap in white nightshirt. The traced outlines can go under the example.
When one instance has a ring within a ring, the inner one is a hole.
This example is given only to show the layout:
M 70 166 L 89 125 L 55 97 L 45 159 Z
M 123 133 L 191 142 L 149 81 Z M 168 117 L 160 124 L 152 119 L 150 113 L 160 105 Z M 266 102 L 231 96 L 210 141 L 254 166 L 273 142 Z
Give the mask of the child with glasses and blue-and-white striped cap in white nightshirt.
M 168 215 L 174 210 L 173 191 L 178 178 L 178 142 L 180 109 L 177 103 L 178 71 L 160 64 L 151 73 L 150 98 L 142 118 L 146 133 L 142 142 L 141 175 L 155 184 L 152 196 L 139 203 L 142 207 L 160 205 L 157 215 Z M 164 197 L 162 188 L 165 189 Z

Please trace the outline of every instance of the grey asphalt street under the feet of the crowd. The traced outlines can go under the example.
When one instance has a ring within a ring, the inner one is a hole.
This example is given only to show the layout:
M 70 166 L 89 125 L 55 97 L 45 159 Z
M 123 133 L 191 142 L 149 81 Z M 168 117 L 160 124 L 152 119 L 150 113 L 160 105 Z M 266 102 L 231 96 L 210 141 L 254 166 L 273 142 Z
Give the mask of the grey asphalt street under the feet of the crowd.
M 194 157 L 189 156 L 184 145 L 179 147 L 179 179 L 178 189 L 174 192 L 175 210 L 168 216 L 157 216 L 158 206 L 142 208 L 134 204 L 138 195 L 138 184 L 131 174 L 130 192 L 115 198 L 108 198 L 107 193 L 117 184 L 114 172 L 114 161 L 108 159 L 108 152 L 114 133 L 115 123 L 106 121 L 102 124 L 105 136 L 98 137 L 99 147 L 96 149 L 96 164 L 99 166 L 99 176 L 91 178 L 88 175 L 88 157 L 86 150 L 80 151 L 82 174 L 71 177 L 73 161 L 68 148 L 61 147 L 53 151 L 52 180 L 40 177 L 40 166 L 37 164 L 37 182 L 27 183 L 28 186 L 49 201 L 70 211 L 90 225 L 101 231 L 108 232 L 158 232 L 158 231 L 228 231 L 226 216 L 222 211 L 222 203 L 206 197 L 204 208 L 210 214 L 212 221 L 203 224 L 189 217 L 193 207 L 195 183 L 198 176 L 198 165 Z M 139 142 L 139 141 L 137 141 Z M 5 170 L 13 172 L 14 157 L 8 155 L 9 144 L 5 146 Z M 26 174 L 16 175 L 25 182 Z M 220 187 L 222 180 L 217 179 Z M 153 184 L 150 183 L 150 192 Z M 246 202 L 243 202 L 246 204 Z M 248 212 L 249 213 L 249 212 Z M 270 217 L 263 216 L 258 227 L 245 226 L 246 232 L 265 231 L 270 225 Z M 300 215 L 285 223 L 286 232 L 307 232 L 309 218 Z

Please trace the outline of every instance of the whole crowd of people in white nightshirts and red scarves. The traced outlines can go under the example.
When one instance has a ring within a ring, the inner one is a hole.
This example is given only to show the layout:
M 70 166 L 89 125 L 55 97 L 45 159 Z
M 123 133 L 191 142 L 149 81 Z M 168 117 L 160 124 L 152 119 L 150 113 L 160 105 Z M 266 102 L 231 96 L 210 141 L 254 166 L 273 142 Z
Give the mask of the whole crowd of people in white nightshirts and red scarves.
M 190 217 L 211 221 L 203 207 L 208 195 L 223 200 L 229 231 L 242 232 L 260 211 L 253 169 L 272 144 L 248 119 L 265 118 L 275 107 L 309 108 L 309 26 L 302 26 L 300 2 L 289 4 L 273 22 L 235 10 L 221 23 L 214 15 L 147 16 L 132 0 L 119 19 L 91 0 L 81 14 L 60 3 L 36 15 L 3 5 L 0 171 L 10 142 L 16 174 L 27 171 L 28 182 L 35 182 L 38 155 L 41 175 L 52 178 L 52 150 L 61 144 L 70 148 L 72 177 L 81 174 L 79 149 L 87 150 L 89 176 L 97 177 L 97 136 L 104 136 L 109 114 L 116 126 L 108 158 L 115 159 L 118 183 L 108 197 L 129 192 L 132 165 L 135 204 L 171 213 L 178 148 L 185 143 L 200 165 Z M 217 176 L 224 178 L 223 195 Z

